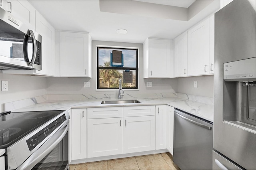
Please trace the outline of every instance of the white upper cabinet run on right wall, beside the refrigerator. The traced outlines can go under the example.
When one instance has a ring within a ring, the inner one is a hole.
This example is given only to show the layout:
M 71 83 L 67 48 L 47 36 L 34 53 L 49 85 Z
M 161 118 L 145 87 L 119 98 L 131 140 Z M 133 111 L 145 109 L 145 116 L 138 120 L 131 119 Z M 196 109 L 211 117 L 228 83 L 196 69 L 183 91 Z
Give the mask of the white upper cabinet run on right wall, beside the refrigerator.
M 174 39 L 175 77 L 214 73 L 214 15 Z

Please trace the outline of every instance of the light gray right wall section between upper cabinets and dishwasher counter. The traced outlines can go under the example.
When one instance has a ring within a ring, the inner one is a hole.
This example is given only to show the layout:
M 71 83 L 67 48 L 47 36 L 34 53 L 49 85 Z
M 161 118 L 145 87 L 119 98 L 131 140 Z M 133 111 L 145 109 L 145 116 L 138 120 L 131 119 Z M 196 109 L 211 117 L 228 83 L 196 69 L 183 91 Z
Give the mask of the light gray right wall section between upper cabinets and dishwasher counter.
M 197 88 L 194 88 L 194 81 L 197 81 Z M 178 78 L 178 89 L 176 92 L 213 97 L 213 75 L 180 77 Z

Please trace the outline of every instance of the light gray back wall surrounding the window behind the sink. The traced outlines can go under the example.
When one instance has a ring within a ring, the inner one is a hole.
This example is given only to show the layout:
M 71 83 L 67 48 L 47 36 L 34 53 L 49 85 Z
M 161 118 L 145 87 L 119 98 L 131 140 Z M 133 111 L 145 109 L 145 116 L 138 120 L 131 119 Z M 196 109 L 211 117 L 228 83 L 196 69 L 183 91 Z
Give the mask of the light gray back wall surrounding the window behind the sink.
M 116 93 L 115 91 L 96 91 L 97 83 L 97 45 L 114 47 L 138 47 L 139 55 L 139 91 L 130 91 L 129 93 L 159 93 L 174 92 L 177 89 L 177 79 L 143 79 L 143 44 L 141 43 L 123 43 L 123 42 L 105 42 L 92 41 L 92 78 L 80 77 L 49 77 L 47 78 L 48 94 L 96 94 L 96 93 Z M 90 81 L 91 87 L 84 88 L 84 81 Z M 151 81 L 152 87 L 146 87 L 146 82 Z M 124 90 L 126 91 L 126 90 Z

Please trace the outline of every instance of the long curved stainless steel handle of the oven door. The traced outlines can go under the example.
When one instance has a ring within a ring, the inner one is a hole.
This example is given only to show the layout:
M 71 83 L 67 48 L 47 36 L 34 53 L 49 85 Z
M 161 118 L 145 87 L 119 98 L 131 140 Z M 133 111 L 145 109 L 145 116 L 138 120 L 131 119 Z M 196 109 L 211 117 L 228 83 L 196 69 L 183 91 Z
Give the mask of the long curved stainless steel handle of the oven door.
M 66 127 L 65 127 L 66 125 Z M 46 155 L 48 155 L 64 138 L 69 129 L 69 121 L 65 123 L 57 132 L 55 132 L 42 146 L 38 148 L 17 170 L 32 169 Z

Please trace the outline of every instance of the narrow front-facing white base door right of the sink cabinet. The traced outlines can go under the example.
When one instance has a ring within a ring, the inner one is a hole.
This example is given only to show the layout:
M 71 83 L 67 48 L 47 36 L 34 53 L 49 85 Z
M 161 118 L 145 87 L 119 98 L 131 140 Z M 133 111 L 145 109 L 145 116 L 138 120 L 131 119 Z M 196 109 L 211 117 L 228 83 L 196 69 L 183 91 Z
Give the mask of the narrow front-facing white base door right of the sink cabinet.
M 156 106 L 156 150 L 166 149 L 166 105 Z

